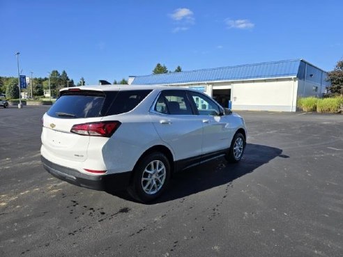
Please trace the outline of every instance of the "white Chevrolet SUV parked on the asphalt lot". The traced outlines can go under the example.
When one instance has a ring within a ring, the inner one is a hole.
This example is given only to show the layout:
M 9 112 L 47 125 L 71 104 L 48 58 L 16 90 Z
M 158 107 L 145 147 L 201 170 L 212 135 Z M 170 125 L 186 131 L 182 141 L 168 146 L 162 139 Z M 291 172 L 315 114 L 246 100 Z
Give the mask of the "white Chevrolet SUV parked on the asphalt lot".
M 160 196 L 176 171 L 219 156 L 240 161 L 247 137 L 238 114 L 167 86 L 66 88 L 42 123 L 49 173 L 91 189 L 128 189 L 142 202 Z

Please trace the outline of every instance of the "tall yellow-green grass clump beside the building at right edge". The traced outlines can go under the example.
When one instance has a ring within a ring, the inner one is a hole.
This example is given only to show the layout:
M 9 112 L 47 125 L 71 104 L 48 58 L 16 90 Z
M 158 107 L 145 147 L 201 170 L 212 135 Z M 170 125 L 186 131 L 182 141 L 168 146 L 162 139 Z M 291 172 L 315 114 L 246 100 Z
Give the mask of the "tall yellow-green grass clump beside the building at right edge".
M 337 113 L 343 104 L 343 97 L 335 98 L 300 98 L 298 107 L 303 111 L 317 111 L 319 113 Z

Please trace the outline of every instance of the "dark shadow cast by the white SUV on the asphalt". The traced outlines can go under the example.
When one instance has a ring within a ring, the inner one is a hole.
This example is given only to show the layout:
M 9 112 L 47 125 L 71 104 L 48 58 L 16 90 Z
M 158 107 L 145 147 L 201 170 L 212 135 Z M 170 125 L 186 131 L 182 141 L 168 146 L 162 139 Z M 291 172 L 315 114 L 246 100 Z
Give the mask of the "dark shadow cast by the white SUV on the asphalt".
M 282 155 L 282 150 L 279 148 L 247 143 L 241 162 L 229 164 L 224 158 L 218 158 L 175 173 L 165 193 L 148 204 L 153 205 L 155 203 L 173 201 L 213 187 L 226 185 L 247 173 L 252 173 L 259 166 L 270 162 L 275 157 L 286 158 L 286 155 Z M 111 194 L 133 201 L 125 192 L 112 192 Z

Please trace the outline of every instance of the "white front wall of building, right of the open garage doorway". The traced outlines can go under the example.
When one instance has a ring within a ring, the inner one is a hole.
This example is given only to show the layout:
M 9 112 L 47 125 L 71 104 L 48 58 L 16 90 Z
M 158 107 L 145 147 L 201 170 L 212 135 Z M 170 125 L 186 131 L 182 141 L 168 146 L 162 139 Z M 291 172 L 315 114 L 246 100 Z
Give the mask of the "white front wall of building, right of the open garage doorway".
M 296 111 L 296 80 L 240 81 L 232 83 L 231 86 L 234 110 Z

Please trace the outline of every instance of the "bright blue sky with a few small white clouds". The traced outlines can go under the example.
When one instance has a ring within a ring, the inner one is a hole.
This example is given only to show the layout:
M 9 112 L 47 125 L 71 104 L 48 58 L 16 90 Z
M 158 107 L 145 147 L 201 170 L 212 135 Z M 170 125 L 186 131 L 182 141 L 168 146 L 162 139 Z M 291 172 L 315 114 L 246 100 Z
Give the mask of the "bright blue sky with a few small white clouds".
M 341 0 L 0 0 L 0 76 L 86 84 L 171 71 L 343 59 Z

